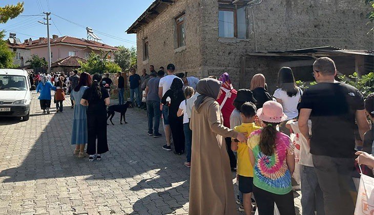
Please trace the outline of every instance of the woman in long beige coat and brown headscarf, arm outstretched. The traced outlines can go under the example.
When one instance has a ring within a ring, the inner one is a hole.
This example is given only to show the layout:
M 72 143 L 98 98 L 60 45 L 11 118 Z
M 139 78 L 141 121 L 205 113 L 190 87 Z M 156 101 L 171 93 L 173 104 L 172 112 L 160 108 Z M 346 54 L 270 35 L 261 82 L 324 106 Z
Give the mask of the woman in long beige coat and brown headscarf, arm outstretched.
M 223 137 L 245 141 L 245 136 L 223 126 L 216 99 L 222 82 L 201 79 L 196 87 L 200 96 L 192 109 L 192 159 L 190 214 L 236 214 L 230 160 Z

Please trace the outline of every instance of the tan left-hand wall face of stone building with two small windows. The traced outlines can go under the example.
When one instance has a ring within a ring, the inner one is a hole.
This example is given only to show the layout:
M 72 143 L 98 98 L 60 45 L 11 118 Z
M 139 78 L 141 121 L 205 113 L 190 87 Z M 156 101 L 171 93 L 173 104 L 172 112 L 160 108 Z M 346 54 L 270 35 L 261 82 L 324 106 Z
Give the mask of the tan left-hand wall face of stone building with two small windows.
M 200 34 L 200 2 L 203 0 L 179 0 L 152 20 L 137 33 L 137 65 L 140 74 L 143 68 L 149 71 L 154 65 L 166 69 L 169 63 L 176 66 L 176 73 L 188 72 L 197 75 L 201 70 L 202 46 Z M 185 12 L 185 47 L 176 49 L 175 18 Z M 148 38 L 149 60 L 143 60 L 143 39 Z

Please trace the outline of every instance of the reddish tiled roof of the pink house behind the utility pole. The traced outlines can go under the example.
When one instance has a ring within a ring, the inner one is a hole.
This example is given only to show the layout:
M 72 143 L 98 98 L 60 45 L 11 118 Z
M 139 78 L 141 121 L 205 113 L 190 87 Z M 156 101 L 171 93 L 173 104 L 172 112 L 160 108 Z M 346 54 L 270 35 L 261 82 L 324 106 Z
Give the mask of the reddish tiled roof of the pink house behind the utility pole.
M 71 36 L 62 36 L 58 37 L 56 39 L 50 38 L 51 45 L 58 44 L 60 42 L 65 42 L 71 45 L 80 45 L 80 46 L 87 46 L 87 47 L 96 47 L 96 48 L 102 48 L 102 49 L 110 49 L 110 50 L 117 50 L 117 48 L 108 46 L 106 44 L 102 44 L 101 42 L 91 41 L 87 39 L 79 39 Z M 31 45 L 25 44 L 27 48 L 32 49 L 33 47 L 40 46 L 40 45 L 46 45 L 47 44 L 47 38 L 41 38 L 32 40 Z

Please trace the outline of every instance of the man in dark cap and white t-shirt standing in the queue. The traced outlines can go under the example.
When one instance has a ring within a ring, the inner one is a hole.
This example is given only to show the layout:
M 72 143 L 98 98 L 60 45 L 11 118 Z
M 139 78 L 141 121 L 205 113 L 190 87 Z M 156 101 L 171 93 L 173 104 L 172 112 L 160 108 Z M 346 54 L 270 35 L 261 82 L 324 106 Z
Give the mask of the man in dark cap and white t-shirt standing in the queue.
M 170 90 L 170 86 L 172 85 L 172 82 L 174 78 L 178 78 L 174 75 L 175 66 L 170 63 L 167 67 L 168 75 L 164 76 L 160 79 L 160 83 L 158 84 L 158 96 L 160 99 L 162 99 L 162 96 Z M 165 131 L 165 138 L 166 138 L 166 145 L 162 146 L 163 149 L 167 151 L 171 151 L 172 148 L 170 146 L 170 136 L 171 136 L 171 130 L 169 125 L 169 107 L 167 105 L 162 105 L 162 118 L 163 118 L 163 127 Z

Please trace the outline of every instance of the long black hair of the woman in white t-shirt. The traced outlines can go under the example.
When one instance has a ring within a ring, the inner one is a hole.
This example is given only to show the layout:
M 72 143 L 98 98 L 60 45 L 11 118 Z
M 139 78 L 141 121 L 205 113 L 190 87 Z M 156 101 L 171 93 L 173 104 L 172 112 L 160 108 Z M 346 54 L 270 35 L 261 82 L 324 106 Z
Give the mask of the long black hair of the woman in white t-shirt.
M 282 67 L 279 70 L 277 87 L 285 91 L 289 97 L 297 95 L 298 88 L 291 68 Z

